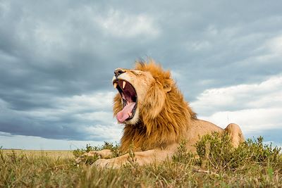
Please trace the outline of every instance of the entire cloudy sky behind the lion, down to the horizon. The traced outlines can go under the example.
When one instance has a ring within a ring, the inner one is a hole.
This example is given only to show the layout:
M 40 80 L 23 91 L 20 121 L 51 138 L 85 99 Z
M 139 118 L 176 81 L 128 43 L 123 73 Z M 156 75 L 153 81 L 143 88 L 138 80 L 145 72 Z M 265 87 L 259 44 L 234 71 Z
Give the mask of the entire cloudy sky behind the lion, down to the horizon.
M 0 146 L 119 142 L 114 69 L 153 58 L 198 118 L 282 146 L 282 1 L 0 0 Z

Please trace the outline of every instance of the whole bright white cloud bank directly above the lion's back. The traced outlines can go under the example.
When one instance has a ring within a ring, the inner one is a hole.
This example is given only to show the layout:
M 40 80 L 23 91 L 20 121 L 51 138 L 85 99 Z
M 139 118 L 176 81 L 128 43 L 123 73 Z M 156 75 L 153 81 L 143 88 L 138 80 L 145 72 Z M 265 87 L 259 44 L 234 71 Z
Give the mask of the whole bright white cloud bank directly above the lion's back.
M 282 76 L 258 84 L 207 89 L 191 103 L 199 118 L 226 127 L 237 123 L 245 133 L 281 128 Z

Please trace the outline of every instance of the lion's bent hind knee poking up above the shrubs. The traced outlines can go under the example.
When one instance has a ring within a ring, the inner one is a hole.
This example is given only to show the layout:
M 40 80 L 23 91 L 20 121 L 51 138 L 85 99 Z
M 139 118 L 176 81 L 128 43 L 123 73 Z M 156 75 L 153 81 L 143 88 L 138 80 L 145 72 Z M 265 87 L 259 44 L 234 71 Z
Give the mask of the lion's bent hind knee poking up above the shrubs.
M 241 142 L 245 141 L 243 132 L 239 125 L 231 123 L 224 130 L 226 130 L 226 132 L 228 132 L 228 134 L 231 136 L 231 143 L 234 147 L 238 147 Z

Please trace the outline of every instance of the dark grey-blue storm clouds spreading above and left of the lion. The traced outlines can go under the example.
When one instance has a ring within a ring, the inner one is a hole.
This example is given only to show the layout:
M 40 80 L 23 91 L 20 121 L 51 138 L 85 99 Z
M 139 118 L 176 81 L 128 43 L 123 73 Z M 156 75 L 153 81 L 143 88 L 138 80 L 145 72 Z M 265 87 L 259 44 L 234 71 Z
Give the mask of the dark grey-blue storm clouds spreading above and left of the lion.
M 282 35 L 281 5 L 1 1 L 0 132 L 104 139 L 87 127 L 109 127 L 114 120 L 78 115 L 111 115 L 113 94 L 104 99 L 95 93 L 113 92 L 114 68 L 131 68 L 146 56 L 172 70 L 190 101 L 205 89 L 262 82 L 282 71 L 281 56 L 271 49 L 271 39 Z M 81 99 L 72 98 L 83 95 L 107 102 L 83 108 Z M 66 108 L 70 103 L 82 109 Z

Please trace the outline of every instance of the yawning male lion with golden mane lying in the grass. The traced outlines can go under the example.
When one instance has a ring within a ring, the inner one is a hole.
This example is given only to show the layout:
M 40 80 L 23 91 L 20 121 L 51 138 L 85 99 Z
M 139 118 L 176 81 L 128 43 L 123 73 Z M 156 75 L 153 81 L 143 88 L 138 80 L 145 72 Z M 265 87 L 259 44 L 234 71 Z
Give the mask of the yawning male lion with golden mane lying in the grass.
M 120 147 L 123 155 L 110 158 L 109 149 L 86 153 L 84 156 L 99 156 L 94 162 L 97 167 L 121 167 L 129 162 L 130 149 L 139 165 L 170 160 L 183 139 L 188 151 L 195 152 L 200 137 L 212 132 L 227 132 L 234 147 L 245 140 L 235 123 L 222 129 L 198 119 L 170 71 L 163 70 L 153 60 L 137 61 L 133 70 L 117 68 L 112 82 L 118 90 L 114 97 L 114 116 L 125 126 Z

